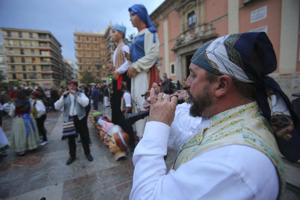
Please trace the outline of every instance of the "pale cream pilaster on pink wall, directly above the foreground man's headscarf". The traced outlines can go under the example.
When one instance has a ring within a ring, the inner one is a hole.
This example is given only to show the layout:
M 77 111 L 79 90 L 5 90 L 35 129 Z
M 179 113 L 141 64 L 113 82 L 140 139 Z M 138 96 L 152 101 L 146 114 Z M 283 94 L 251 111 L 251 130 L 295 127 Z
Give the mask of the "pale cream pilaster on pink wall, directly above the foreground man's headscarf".
M 228 0 L 228 34 L 238 33 L 238 1 Z

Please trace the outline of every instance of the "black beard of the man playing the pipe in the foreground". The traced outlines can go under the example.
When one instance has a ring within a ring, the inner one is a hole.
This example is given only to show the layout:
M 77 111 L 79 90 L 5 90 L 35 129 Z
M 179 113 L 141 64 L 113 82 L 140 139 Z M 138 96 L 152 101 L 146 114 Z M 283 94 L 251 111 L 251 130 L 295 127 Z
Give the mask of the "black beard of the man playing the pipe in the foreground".
M 196 99 L 190 94 L 190 90 L 187 90 L 190 96 L 190 116 L 191 117 L 203 117 L 205 109 L 212 105 L 212 97 L 209 95 L 208 85 L 203 86 L 201 94 Z

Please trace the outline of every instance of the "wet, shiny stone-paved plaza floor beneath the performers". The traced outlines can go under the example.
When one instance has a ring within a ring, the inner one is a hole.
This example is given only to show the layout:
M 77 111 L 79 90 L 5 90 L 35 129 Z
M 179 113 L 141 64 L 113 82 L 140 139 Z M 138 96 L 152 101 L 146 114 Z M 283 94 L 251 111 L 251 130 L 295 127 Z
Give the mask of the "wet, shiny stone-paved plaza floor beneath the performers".
M 99 104 L 99 110 L 111 119 L 110 108 Z M 24 157 L 16 156 L 10 149 L 6 157 L 0 157 L 0 200 L 129 199 L 133 153 L 128 152 L 126 160 L 115 162 L 88 119 L 94 160 L 89 162 L 82 145 L 77 145 L 76 160 L 67 166 L 68 141 L 61 140 L 61 114 L 61 111 L 47 114 L 47 145 L 27 151 Z M 8 140 L 11 121 L 10 117 L 3 118 L 2 128 Z M 176 154 L 175 150 L 168 150 L 167 169 L 172 166 Z

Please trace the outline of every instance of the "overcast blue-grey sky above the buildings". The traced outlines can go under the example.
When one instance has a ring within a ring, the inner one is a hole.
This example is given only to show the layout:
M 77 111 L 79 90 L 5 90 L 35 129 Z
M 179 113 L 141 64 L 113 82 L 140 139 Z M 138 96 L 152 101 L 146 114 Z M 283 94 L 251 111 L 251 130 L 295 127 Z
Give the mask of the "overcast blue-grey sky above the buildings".
M 143 4 L 149 15 L 164 0 L 0 0 L 0 27 L 50 31 L 61 43 L 62 55 L 74 62 L 74 28 L 101 31 L 110 23 L 126 26 L 126 36 L 137 34 L 128 8 Z M 1 31 L 0 31 L 1 32 Z M 2 34 L 1 34 L 2 35 Z M 0 38 L 2 42 L 2 37 Z

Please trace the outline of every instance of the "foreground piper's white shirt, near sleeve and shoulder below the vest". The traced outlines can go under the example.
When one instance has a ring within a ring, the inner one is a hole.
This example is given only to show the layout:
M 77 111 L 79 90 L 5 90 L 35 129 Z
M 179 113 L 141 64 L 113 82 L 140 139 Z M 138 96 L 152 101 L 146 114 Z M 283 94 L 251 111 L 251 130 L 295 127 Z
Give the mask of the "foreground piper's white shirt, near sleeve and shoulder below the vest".
M 277 198 L 279 183 L 273 163 L 244 145 L 208 151 L 166 174 L 169 133 L 170 127 L 161 122 L 146 124 L 132 158 L 135 169 L 130 199 Z

